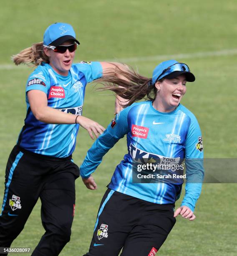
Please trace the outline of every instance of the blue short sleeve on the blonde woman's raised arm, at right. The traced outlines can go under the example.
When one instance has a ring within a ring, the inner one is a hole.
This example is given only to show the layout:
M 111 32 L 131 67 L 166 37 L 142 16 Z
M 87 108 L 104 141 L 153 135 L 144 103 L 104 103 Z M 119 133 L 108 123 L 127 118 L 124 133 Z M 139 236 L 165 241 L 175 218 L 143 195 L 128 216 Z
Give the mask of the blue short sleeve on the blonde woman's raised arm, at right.
M 80 63 L 76 64 L 76 67 L 84 74 L 87 83 L 101 78 L 103 74 L 101 63 L 98 61 L 81 61 Z

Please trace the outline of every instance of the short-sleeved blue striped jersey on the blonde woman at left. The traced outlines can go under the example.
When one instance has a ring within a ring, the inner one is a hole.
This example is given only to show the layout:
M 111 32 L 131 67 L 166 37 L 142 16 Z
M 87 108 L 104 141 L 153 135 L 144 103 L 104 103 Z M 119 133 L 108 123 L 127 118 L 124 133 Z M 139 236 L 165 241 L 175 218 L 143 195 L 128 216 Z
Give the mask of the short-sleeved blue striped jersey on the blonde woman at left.
M 18 145 L 37 154 L 55 157 L 71 155 L 76 146 L 78 124 L 48 124 L 40 122 L 30 110 L 27 92 L 40 90 L 48 98 L 48 106 L 58 111 L 81 115 L 86 84 L 102 76 L 99 62 L 73 64 L 68 76 L 55 72 L 46 63 L 30 74 L 26 83 L 27 114 Z

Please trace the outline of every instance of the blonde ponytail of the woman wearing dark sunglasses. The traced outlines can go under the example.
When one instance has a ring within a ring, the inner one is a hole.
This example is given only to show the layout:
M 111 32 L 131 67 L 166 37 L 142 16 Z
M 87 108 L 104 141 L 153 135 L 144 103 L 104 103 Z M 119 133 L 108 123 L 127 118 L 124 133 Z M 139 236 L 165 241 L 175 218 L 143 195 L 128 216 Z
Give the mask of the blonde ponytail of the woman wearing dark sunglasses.
M 16 65 L 21 63 L 31 66 L 38 66 L 42 62 L 49 63 L 48 56 L 43 51 L 43 42 L 33 44 L 20 53 L 13 55 L 12 60 Z

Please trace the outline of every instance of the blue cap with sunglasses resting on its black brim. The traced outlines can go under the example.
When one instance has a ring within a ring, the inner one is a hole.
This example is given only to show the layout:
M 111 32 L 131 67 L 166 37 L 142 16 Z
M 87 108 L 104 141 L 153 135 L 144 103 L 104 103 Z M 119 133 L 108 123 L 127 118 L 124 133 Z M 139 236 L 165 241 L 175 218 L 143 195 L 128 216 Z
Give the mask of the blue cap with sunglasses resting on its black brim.
M 175 78 L 181 74 L 185 74 L 187 82 L 194 82 L 194 74 L 190 72 L 187 64 L 180 63 L 174 59 L 163 61 L 155 67 L 152 74 L 152 84 L 162 78 Z

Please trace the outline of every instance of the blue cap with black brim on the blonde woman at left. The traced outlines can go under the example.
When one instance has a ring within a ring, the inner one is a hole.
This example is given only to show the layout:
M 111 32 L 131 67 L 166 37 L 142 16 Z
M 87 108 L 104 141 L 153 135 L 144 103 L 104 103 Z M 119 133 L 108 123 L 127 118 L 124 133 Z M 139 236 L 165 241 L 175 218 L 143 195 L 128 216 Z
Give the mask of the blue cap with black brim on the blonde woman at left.
M 76 33 L 71 25 L 67 23 L 54 23 L 45 30 L 43 44 L 59 46 L 70 39 L 80 44 L 76 40 Z

